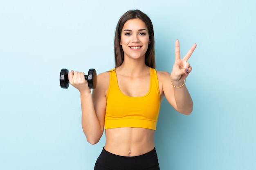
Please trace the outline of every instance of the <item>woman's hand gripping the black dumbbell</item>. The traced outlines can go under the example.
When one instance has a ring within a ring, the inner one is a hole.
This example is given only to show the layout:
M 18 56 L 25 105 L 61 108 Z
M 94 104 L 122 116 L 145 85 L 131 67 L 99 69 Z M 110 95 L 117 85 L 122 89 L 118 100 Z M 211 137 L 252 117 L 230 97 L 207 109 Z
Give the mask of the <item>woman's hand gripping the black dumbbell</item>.
M 74 72 L 73 70 L 68 73 L 68 80 L 72 86 L 82 92 L 91 92 L 88 82 L 85 80 L 84 72 Z

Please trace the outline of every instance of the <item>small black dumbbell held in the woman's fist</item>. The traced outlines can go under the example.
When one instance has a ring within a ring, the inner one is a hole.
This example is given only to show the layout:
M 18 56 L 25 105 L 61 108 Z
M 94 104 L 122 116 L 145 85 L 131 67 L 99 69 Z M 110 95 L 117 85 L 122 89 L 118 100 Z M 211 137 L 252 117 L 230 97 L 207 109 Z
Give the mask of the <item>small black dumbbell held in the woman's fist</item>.
M 68 86 L 70 85 L 70 82 L 68 81 L 68 70 L 63 68 L 61 69 L 61 73 L 60 73 L 60 85 L 63 89 L 67 89 Z M 94 70 L 93 68 L 89 69 L 88 71 L 88 75 L 84 75 L 85 76 L 85 80 L 87 80 L 88 82 L 88 86 L 91 89 L 95 89 L 96 85 L 97 85 L 97 73 L 96 70 Z

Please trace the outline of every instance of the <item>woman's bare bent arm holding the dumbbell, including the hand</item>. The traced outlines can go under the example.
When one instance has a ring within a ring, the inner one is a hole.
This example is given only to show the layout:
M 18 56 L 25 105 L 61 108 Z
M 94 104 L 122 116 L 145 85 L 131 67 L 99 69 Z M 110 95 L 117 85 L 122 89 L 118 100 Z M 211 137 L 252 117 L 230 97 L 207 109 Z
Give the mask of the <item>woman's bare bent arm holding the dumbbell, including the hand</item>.
M 80 92 L 82 128 L 86 139 L 90 144 L 97 144 L 104 131 L 109 73 L 101 73 L 97 76 L 97 87 L 93 93 L 83 72 L 69 72 L 69 81 Z

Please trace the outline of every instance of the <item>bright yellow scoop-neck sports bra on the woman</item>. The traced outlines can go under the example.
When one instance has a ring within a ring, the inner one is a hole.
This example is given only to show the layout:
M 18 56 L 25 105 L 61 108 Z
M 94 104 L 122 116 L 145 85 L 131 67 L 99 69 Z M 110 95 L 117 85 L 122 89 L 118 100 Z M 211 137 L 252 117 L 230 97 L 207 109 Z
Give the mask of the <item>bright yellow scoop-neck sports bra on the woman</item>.
M 144 96 L 131 97 L 119 89 L 115 69 L 110 70 L 105 129 L 140 127 L 156 130 L 160 92 L 156 70 L 150 68 L 150 87 Z

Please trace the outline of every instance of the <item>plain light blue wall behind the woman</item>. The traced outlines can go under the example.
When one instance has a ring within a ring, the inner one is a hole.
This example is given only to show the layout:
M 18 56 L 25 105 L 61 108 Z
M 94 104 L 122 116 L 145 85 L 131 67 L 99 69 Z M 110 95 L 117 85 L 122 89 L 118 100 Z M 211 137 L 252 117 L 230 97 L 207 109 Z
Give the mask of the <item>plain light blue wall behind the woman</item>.
M 162 170 L 256 169 L 256 3 L 253 0 L 2 0 L 0 169 L 92 170 L 94 146 L 81 128 L 79 92 L 59 87 L 61 68 L 114 67 L 119 17 L 147 13 L 157 70 L 171 72 L 180 40 L 193 71 L 190 116 L 163 101 L 155 144 Z

